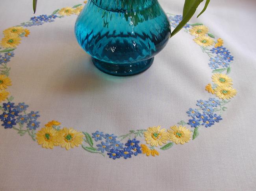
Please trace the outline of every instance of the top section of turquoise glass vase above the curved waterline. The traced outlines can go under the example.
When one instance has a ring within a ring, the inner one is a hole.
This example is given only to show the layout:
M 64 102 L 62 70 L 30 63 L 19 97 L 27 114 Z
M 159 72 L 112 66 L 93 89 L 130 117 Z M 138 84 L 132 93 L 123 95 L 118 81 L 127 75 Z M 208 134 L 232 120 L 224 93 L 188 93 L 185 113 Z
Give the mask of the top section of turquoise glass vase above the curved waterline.
M 112 12 L 134 12 L 151 6 L 157 0 L 90 0 L 99 8 Z

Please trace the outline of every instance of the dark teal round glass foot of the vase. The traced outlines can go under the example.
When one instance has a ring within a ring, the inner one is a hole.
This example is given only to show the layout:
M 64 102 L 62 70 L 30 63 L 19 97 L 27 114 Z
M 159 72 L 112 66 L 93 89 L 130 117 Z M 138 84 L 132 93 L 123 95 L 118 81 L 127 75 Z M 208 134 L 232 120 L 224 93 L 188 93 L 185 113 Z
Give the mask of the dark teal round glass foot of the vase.
M 132 76 L 147 70 L 153 63 L 154 57 L 131 64 L 113 64 L 93 58 L 93 64 L 102 72 L 113 76 Z

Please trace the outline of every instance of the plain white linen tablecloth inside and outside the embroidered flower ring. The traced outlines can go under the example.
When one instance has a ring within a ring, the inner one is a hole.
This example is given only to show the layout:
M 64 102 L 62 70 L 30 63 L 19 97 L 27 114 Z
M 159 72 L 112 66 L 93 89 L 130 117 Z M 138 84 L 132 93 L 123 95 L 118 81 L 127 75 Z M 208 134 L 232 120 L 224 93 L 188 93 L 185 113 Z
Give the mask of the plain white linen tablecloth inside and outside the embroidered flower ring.
M 36 15 L 79 3 L 39 0 Z M 172 14 L 181 14 L 183 3 L 160 0 Z M 0 5 L 0 31 L 33 16 L 32 0 L 1 0 Z M 159 156 L 127 160 L 112 160 L 81 146 L 43 149 L 30 136 L 1 126 L 0 190 L 256 190 L 255 5 L 254 0 L 214 0 L 191 21 L 202 22 L 222 38 L 234 56 L 230 76 L 238 93 L 221 122 L 200 128 L 195 140 Z M 213 97 L 205 91 L 212 75 L 209 58 L 188 33 L 171 38 L 144 73 L 116 77 L 98 71 L 78 45 L 75 20 L 72 15 L 29 27 L 29 37 L 8 63 L 13 84 L 8 91 L 15 103 L 25 102 L 40 112 L 41 126 L 58 120 L 62 127 L 116 135 L 158 125 L 168 129 L 188 120 L 186 111 L 197 100 Z

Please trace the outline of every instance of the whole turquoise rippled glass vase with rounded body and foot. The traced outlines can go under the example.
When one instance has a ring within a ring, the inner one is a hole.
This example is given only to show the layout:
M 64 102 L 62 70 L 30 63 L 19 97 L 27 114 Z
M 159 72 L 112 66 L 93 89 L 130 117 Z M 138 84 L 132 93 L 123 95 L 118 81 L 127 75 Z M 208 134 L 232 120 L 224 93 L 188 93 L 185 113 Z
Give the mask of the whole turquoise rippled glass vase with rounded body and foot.
M 98 69 L 129 76 L 150 67 L 171 27 L 157 0 L 89 0 L 75 35 Z

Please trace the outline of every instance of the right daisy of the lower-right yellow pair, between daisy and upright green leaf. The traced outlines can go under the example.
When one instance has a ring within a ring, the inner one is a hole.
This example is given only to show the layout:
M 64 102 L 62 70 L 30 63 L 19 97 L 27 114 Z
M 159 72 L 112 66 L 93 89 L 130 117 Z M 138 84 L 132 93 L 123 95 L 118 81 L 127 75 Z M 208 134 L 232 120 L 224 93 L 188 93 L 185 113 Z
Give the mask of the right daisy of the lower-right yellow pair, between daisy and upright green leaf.
M 184 144 L 185 142 L 189 142 L 191 137 L 191 131 L 184 126 L 173 126 L 172 130 L 168 129 L 170 135 L 170 140 L 176 144 Z

